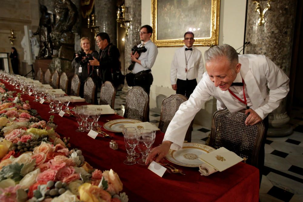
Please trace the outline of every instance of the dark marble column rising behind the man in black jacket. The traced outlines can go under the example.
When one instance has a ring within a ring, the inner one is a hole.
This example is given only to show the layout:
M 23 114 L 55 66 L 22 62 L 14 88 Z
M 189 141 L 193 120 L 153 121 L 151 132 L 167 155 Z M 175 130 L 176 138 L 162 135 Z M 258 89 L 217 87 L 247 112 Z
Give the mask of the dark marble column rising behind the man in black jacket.
M 117 0 L 95 0 L 96 26 L 100 26 L 99 32 L 108 33 L 115 45 L 117 45 L 116 4 Z

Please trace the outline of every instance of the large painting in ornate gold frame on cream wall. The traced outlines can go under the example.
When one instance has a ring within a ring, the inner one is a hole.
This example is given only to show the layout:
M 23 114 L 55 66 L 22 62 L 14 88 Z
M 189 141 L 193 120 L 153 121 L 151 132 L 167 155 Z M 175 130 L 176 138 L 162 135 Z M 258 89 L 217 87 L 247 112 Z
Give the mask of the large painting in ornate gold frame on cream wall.
M 151 0 L 151 40 L 158 47 L 183 46 L 184 33 L 192 31 L 196 46 L 218 45 L 219 16 L 220 0 Z

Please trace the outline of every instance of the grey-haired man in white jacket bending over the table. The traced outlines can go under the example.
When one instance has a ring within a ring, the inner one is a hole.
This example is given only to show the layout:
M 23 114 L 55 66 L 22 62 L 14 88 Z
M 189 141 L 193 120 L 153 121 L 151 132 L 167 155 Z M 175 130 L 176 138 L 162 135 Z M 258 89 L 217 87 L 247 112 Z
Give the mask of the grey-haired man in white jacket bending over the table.
M 162 144 L 151 151 L 146 164 L 154 158 L 156 162 L 160 161 L 170 148 L 182 148 L 191 120 L 210 96 L 217 99 L 218 110 L 227 107 L 235 112 L 247 108 L 246 125 L 254 125 L 263 119 L 268 125 L 268 114 L 279 106 L 289 91 L 289 78 L 264 55 L 238 55 L 234 48 L 224 44 L 209 48 L 204 56 L 207 72 L 188 101 L 180 105 Z M 242 83 L 242 86 L 232 86 L 233 83 Z M 259 169 L 264 165 L 265 139 L 266 133 L 259 155 Z

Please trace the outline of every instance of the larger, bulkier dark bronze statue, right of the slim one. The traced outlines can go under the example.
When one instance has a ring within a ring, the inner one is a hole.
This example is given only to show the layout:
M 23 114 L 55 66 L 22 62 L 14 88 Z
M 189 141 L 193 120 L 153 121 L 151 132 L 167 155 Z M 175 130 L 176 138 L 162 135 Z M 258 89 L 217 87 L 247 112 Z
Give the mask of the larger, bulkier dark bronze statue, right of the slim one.
M 72 28 L 77 21 L 77 7 L 71 0 L 55 0 L 56 24 L 51 37 L 58 57 L 72 61 L 74 56 L 75 35 Z

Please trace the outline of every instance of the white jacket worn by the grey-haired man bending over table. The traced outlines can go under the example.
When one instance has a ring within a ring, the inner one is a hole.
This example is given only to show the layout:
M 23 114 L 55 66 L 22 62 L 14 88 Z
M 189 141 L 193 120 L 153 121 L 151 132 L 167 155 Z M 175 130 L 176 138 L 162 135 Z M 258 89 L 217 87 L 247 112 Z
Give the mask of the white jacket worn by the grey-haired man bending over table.
M 275 110 L 289 91 L 289 78 L 270 59 L 264 55 L 239 55 L 240 74 L 251 100 L 251 108 L 264 119 Z M 269 88 L 267 92 L 266 85 Z M 235 102 L 229 91 L 222 91 L 209 79 L 207 72 L 198 83 L 188 101 L 180 105 L 166 130 L 163 141 L 171 141 L 171 149 L 182 148 L 186 131 L 195 114 L 210 96 L 217 99 L 218 110 L 225 107 L 235 112 L 243 105 Z

